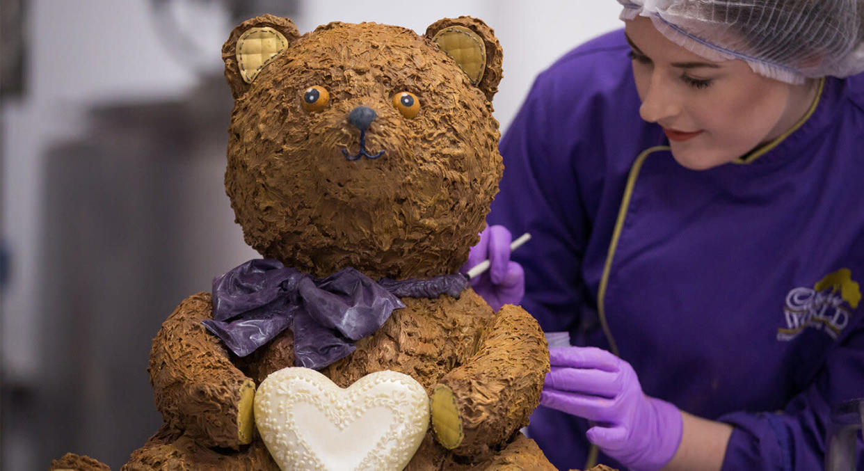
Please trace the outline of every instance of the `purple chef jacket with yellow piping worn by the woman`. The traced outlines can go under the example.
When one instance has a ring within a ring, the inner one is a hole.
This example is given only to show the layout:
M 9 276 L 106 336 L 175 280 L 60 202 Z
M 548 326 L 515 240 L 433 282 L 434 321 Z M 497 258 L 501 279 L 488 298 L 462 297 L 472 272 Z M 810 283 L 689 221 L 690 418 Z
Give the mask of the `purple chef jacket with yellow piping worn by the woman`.
M 694 171 L 639 118 L 628 50 L 619 30 L 563 56 L 500 143 L 487 220 L 533 236 L 523 306 L 734 425 L 724 469 L 820 469 L 831 405 L 864 398 L 864 74 L 823 80 L 770 149 Z M 587 429 L 541 406 L 529 432 L 568 469 Z

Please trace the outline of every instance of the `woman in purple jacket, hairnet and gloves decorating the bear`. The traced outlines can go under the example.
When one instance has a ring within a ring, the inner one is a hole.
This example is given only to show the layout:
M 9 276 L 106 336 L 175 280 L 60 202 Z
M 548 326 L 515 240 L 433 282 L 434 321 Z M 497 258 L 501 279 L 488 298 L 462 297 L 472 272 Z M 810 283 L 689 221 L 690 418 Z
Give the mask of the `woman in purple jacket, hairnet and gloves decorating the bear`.
M 864 2 L 619 3 L 537 77 L 468 263 L 581 346 L 530 436 L 564 469 L 822 468 L 864 397 Z

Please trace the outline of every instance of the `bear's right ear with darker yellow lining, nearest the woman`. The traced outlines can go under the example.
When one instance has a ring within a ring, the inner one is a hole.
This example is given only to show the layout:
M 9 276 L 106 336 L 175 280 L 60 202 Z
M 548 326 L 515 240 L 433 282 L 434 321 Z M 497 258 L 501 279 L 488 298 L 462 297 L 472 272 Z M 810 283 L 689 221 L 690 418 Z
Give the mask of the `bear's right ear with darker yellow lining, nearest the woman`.
M 471 16 L 444 18 L 429 25 L 426 37 L 435 42 L 492 101 L 501 81 L 501 44 L 492 28 Z

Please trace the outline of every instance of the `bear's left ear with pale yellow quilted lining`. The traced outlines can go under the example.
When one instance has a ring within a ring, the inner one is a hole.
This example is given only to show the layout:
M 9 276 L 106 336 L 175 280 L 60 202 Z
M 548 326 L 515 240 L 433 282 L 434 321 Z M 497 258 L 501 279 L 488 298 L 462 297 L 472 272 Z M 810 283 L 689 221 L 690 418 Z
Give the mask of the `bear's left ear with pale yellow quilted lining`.
M 222 60 L 234 99 L 240 98 L 257 74 L 299 37 L 294 22 L 272 15 L 256 16 L 233 29 L 222 46 Z

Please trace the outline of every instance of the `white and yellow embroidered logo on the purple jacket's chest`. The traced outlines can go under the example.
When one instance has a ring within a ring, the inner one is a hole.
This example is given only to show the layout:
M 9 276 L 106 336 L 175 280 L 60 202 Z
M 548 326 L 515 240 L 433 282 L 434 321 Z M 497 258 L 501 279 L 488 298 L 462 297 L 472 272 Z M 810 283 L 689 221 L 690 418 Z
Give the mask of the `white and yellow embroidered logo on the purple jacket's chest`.
M 849 323 L 851 309 L 857 308 L 859 302 L 861 290 L 846 268 L 829 273 L 812 289 L 795 288 L 786 295 L 786 327 L 778 328 L 777 340 L 791 341 L 804 328 L 821 329 L 836 340 Z

